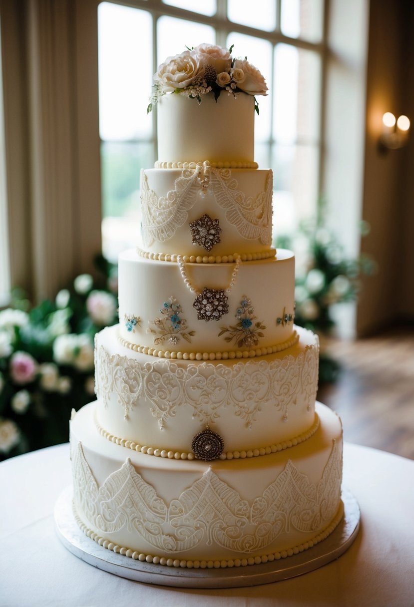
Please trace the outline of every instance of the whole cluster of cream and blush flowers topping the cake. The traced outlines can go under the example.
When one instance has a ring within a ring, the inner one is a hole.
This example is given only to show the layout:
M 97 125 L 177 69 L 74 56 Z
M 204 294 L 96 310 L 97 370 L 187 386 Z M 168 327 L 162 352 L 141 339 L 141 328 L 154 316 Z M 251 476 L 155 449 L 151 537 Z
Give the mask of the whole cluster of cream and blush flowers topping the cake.
M 199 44 L 180 55 L 168 57 L 154 74 L 154 94 L 148 112 L 166 93 L 178 93 L 202 101 L 202 95 L 213 93 L 217 101 L 220 94 L 236 96 L 267 95 L 265 79 L 246 58 L 233 58 L 229 50 L 215 44 Z M 255 100 L 255 109 L 259 113 Z

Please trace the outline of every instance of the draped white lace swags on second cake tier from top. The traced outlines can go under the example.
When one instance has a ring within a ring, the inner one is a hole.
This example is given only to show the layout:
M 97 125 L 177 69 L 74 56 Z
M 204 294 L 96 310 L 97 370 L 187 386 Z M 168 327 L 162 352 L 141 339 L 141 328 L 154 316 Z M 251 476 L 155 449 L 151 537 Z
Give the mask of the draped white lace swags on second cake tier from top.
M 175 180 L 174 189 L 158 197 L 149 188 L 148 177 L 141 171 L 141 230 L 145 246 L 171 239 L 188 220 L 188 211 L 206 189 L 211 188 L 217 204 L 225 209 L 226 219 L 246 240 L 271 244 L 271 198 L 273 175 L 269 171 L 265 190 L 256 197 L 246 197 L 238 189 L 231 169 L 212 168 L 209 163 L 185 168 Z

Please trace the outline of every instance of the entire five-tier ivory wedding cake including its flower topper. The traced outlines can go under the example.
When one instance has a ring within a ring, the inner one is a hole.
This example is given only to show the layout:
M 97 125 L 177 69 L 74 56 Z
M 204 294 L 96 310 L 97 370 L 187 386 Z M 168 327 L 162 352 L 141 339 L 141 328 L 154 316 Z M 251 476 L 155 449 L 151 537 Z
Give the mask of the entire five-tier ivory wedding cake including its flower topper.
M 157 75 L 143 248 L 120 256 L 97 401 L 70 423 L 76 520 L 135 559 L 253 565 L 342 517 L 341 422 L 315 405 L 317 337 L 294 326 L 294 256 L 271 247 L 272 172 L 253 158 L 265 91 L 208 45 Z

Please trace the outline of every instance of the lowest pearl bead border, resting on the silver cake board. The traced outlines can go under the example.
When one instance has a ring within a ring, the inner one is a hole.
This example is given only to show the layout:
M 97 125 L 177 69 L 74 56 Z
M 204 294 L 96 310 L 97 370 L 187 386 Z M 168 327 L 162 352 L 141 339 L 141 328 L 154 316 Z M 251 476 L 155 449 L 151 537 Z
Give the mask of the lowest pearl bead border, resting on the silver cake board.
M 126 557 L 133 558 L 136 561 L 146 561 L 146 563 L 154 563 L 154 565 L 163 565 L 167 567 L 175 567 L 175 568 L 188 568 L 188 569 L 220 569 L 227 567 L 246 567 L 248 565 L 260 565 L 260 563 L 270 563 L 271 561 L 280 560 L 280 558 L 291 557 L 294 554 L 299 554 L 299 552 L 304 552 L 316 544 L 319 544 L 322 540 L 325 540 L 328 535 L 330 535 L 338 524 L 341 522 L 344 517 L 344 504 L 341 501 L 338 512 L 335 517 L 331 521 L 331 523 L 325 527 L 323 531 L 317 534 L 311 540 L 305 541 L 302 544 L 297 544 L 293 546 L 293 548 L 288 548 L 282 551 L 271 552 L 270 554 L 263 554 L 256 557 L 247 557 L 247 558 L 230 558 L 223 560 L 186 560 L 180 558 L 172 558 L 172 557 L 158 557 L 153 556 L 151 554 L 144 554 L 143 552 L 139 552 L 137 550 L 133 550 L 132 548 L 124 548 L 123 546 L 118 546 L 114 542 L 110 540 L 106 540 L 95 531 L 92 531 L 80 518 L 75 509 L 75 504 L 73 504 L 73 517 L 75 518 L 75 522 L 80 527 L 81 531 L 87 535 L 91 540 L 96 541 L 97 544 L 106 548 L 107 550 L 112 550 L 117 554 L 122 554 Z

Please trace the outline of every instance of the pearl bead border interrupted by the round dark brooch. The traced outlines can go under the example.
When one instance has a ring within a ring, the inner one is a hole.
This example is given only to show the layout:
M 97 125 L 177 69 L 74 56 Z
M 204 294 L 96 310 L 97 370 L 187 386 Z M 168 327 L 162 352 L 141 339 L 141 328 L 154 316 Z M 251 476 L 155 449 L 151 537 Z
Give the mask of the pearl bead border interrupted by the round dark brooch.
M 189 452 L 180 452 L 180 451 L 172 451 L 168 449 L 157 449 L 154 447 L 148 447 L 146 445 L 140 445 L 138 443 L 134 443 L 134 441 L 129 441 L 125 438 L 119 438 L 118 436 L 114 436 L 110 432 L 107 432 L 95 421 L 97 426 L 97 430 L 101 436 L 106 438 L 110 443 L 115 443 L 120 445 L 121 447 L 126 447 L 126 449 L 131 449 L 132 451 L 137 451 L 138 453 L 144 453 L 144 455 L 154 455 L 155 457 L 161 457 L 163 459 L 197 459 L 194 453 Z M 306 432 L 302 432 L 299 436 L 295 436 L 294 438 L 287 439 L 286 441 L 282 441 L 282 443 L 276 443 L 270 445 L 268 447 L 260 447 L 259 449 L 246 449 L 246 450 L 237 450 L 237 451 L 228 451 L 227 453 L 222 453 L 217 459 L 245 459 L 245 458 L 253 458 L 259 457 L 263 455 L 270 455 L 270 453 L 276 453 L 279 451 L 284 451 L 285 449 L 290 449 L 290 447 L 296 447 L 300 443 L 304 443 L 308 438 L 314 435 L 316 430 L 319 428 L 319 416 L 315 413 L 315 418 L 312 426 Z

